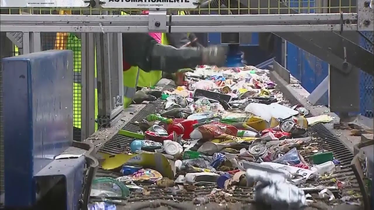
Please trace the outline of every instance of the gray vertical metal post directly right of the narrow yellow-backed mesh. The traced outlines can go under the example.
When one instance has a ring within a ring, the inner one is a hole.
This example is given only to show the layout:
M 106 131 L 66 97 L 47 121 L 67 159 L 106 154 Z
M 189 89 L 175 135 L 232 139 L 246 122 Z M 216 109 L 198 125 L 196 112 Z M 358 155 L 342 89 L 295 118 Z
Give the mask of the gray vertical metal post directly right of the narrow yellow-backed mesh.
M 95 132 L 95 34 L 82 33 L 82 140 Z

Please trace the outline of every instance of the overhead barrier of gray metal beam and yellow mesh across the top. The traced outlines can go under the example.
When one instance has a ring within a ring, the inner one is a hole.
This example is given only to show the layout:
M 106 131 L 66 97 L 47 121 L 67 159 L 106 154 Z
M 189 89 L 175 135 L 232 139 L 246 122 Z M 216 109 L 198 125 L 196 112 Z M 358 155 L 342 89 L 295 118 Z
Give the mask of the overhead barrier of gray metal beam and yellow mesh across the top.
M 8 32 L 353 31 L 371 30 L 374 22 L 366 9 L 373 0 L 91 0 L 58 9 L 14 7 L 19 1 L 4 1 L 1 29 Z M 144 10 L 150 11 L 139 15 Z

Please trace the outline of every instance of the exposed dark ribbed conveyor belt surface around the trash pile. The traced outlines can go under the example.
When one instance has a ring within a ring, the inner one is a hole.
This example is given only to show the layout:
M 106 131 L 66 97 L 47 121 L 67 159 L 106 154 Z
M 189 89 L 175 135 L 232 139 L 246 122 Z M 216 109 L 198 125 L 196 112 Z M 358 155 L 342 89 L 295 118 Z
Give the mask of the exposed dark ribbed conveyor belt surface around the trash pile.
M 300 105 L 300 102 L 289 92 L 289 90 L 282 86 L 275 78 L 271 79 L 278 84 L 277 89 L 283 93 L 283 98 L 289 102 L 291 106 L 293 105 Z M 151 102 L 147 106 L 145 106 L 137 115 L 135 115 L 132 120 L 123 127 L 124 130 L 128 130 L 131 132 L 139 132 L 140 128 L 132 122 L 140 121 L 145 118 L 148 114 L 154 114 L 156 112 L 161 111 L 162 107 L 162 100 L 157 99 L 157 101 Z M 309 114 L 307 117 L 311 117 L 312 115 Z M 344 146 L 344 144 L 331 133 L 323 124 L 316 124 L 309 128 L 310 133 L 315 138 L 313 143 L 318 143 L 319 149 L 325 149 L 330 151 L 334 154 L 334 158 L 341 161 L 341 171 L 335 173 L 334 176 L 329 177 L 327 179 L 320 179 L 316 182 L 310 182 L 313 186 L 336 186 L 335 183 L 331 181 L 332 178 L 336 180 L 340 180 L 342 182 L 349 183 L 349 186 L 345 188 L 345 190 L 353 190 L 358 192 L 359 187 L 355 175 L 350 168 L 350 162 L 353 159 L 352 152 Z M 105 146 L 100 150 L 102 152 L 110 153 L 110 154 L 118 154 L 120 152 L 129 151 L 128 147 L 131 143 L 132 139 L 127 138 L 125 136 L 115 135 L 114 138 L 109 140 Z M 302 154 L 303 157 L 307 160 L 310 154 Z M 98 176 L 113 176 L 111 172 L 106 172 L 104 170 L 98 170 Z M 196 188 L 193 192 L 183 192 L 183 194 L 174 194 L 172 195 L 171 192 L 166 191 L 165 189 L 157 189 L 157 188 L 148 188 L 147 190 L 151 193 L 150 195 L 142 195 L 133 193 L 130 198 L 128 198 L 129 202 L 137 202 L 142 200 L 162 200 L 162 199 L 171 199 L 170 196 L 173 196 L 174 200 L 178 201 L 191 201 L 194 197 L 198 195 L 207 195 L 211 192 L 211 190 L 215 188 L 215 185 L 205 186 L 205 188 Z M 250 195 L 252 194 L 252 188 L 236 188 L 233 192 L 233 202 L 249 202 L 248 198 L 252 198 Z M 333 192 L 337 192 L 336 190 Z

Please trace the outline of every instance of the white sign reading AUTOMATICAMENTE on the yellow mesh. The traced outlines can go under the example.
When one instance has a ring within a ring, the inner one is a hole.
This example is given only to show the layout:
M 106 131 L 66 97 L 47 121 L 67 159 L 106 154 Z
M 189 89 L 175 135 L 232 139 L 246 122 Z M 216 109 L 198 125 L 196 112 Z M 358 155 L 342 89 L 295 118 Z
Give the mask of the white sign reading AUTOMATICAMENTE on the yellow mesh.
M 195 9 L 199 0 L 104 0 L 104 8 Z

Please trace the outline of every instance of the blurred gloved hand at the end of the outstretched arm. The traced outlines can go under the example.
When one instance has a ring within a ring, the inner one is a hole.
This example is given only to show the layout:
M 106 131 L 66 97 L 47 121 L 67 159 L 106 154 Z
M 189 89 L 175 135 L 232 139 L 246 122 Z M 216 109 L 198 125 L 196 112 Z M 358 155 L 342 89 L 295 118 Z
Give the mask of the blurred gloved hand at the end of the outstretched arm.
M 222 46 L 209 46 L 199 48 L 202 51 L 203 65 L 216 65 L 222 67 L 226 62 L 226 49 Z

